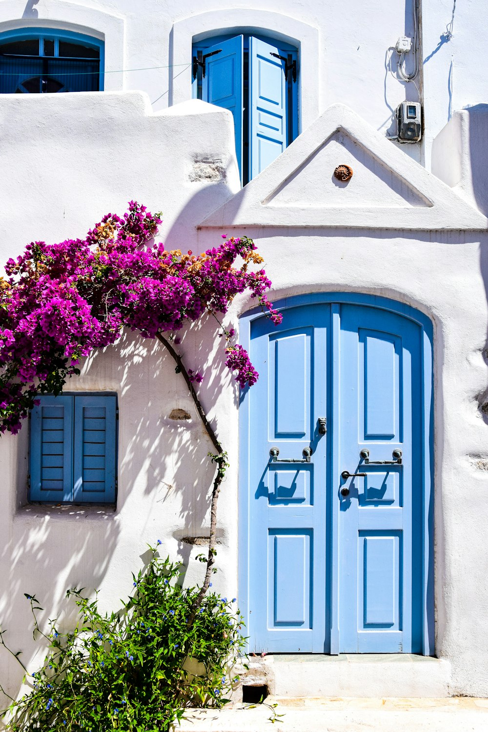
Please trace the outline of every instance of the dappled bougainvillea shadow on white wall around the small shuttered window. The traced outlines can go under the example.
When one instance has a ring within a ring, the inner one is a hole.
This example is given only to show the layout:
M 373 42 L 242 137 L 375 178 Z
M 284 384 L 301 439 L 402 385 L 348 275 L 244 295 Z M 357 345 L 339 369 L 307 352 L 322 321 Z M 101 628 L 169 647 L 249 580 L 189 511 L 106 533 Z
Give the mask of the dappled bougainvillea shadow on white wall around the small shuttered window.
M 237 397 L 236 388 L 229 386 L 223 343 L 217 335 L 217 324 L 209 318 L 188 329 L 179 348 L 187 367 L 204 373 L 200 399 L 227 448 L 228 425 L 222 417 L 212 418 L 213 409 L 217 400 L 224 399 L 227 408 L 219 408 L 219 414 L 235 422 Z M 184 582 L 193 585 L 203 577 L 204 565 L 190 562 L 190 553 L 194 550 L 195 556 L 206 547 L 193 548 L 181 539 L 209 535 L 212 445 L 162 344 L 124 332 L 116 346 L 86 359 L 81 376 L 73 378 L 68 389 L 119 392 L 119 494 L 115 512 L 32 505 L 21 507 L 13 517 L 0 518 L 0 534 L 11 537 L 0 553 L 4 575 L 0 623 L 9 631 L 9 646 L 13 651 L 22 649 L 23 662 L 31 671 L 42 663 L 44 651 L 37 652 L 39 644 L 32 641 L 30 605 L 24 593 L 35 594 L 45 608 L 39 613 L 42 627 L 59 616 L 59 627 L 72 629 L 76 608 L 63 599 L 67 588 L 101 589 L 100 608 L 116 609 L 118 598 L 132 590 L 130 572 L 138 572 L 146 561 L 146 544 L 154 545 L 157 539 L 162 541 L 160 555 L 184 563 L 185 575 L 189 564 Z M 170 417 L 176 410 L 190 419 Z M 235 467 L 236 458 L 232 462 Z M 222 489 L 225 493 L 225 485 Z M 227 535 L 220 529 L 221 544 L 227 544 Z M 0 683 L 16 695 L 23 671 L 4 649 L 0 649 L 0 672 Z

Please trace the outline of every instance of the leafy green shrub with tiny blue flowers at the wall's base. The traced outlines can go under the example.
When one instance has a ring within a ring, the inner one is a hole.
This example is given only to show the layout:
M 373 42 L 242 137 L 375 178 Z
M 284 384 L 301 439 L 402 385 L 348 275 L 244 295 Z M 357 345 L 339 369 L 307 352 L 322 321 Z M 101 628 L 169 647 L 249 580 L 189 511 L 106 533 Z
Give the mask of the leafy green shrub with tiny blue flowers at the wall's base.
M 181 565 L 150 550 L 147 567 L 132 575 L 132 596 L 117 612 L 102 616 L 97 596 L 67 592 L 78 605 L 74 632 L 50 621 L 50 632 L 42 633 L 36 617 L 42 608 L 26 595 L 34 637 L 46 638 L 49 649 L 31 674 L 31 692 L 3 712 L 12 732 L 164 732 L 188 706 L 228 701 L 237 678 L 232 665 L 244 644 L 236 600 L 207 594 L 195 607 L 198 588 L 181 589 Z

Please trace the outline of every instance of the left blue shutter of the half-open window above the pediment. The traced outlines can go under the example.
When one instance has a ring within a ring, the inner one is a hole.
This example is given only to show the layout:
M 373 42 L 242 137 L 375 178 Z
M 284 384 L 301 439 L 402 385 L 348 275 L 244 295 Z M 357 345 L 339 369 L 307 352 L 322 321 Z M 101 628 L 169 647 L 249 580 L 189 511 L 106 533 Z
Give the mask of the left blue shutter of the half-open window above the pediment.
M 242 90 L 244 38 L 236 36 L 206 48 L 202 99 L 232 112 L 236 133 L 236 157 L 242 176 Z M 209 56 L 210 53 L 214 56 Z

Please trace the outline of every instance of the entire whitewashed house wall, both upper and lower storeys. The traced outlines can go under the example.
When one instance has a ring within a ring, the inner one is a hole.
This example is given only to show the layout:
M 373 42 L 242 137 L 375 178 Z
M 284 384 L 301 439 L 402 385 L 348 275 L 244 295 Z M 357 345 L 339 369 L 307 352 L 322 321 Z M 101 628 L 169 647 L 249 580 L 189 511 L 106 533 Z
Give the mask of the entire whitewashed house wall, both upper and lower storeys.
M 356 208 L 349 210 L 350 200 L 341 200 L 337 190 L 330 188 L 327 171 L 323 179 L 327 205 L 334 199 L 342 220 L 332 220 L 327 228 L 320 221 L 307 228 L 290 228 L 277 216 L 264 225 L 250 218 L 263 200 L 263 173 L 241 194 L 249 217 L 246 220 L 246 209 L 239 209 L 243 218 L 236 231 L 258 241 L 276 298 L 308 291 L 372 292 L 418 307 L 434 321 L 436 649 L 450 669 L 446 693 L 488 696 L 488 450 L 487 425 L 479 409 L 487 400 L 488 241 L 486 219 L 462 203 L 480 205 L 479 188 L 473 190 L 466 181 L 473 160 L 486 154 L 480 131 L 486 124 L 481 119 L 476 135 L 462 138 L 462 124 L 454 117 L 451 124 L 461 132 L 451 126 L 435 143 L 433 170 L 457 186 L 462 198 L 453 197 L 407 157 L 423 160 L 425 154 L 429 167 L 432 140 L 454 111 L 488 97 L 479 23 L 484 0 L 458 2 L 451 28 L 454 35 L 443 42 L 440 36 L 451 20 L 451 0 L 424 2 L 424 152 L 416 145 L 397 152 L 375 136 L 375 130 L 385 134 L 391 110 L 405 98 L 404 85 L 385 64 L 391 53 L 388 47 L 405 29 L 411 33 L 408 4 L 405 8 L 403 3 L 351 0 L 347 12 L 343 3 L 326 1 L 283 0 L 279 12 L 276 2 L 269 0 L 257 3 L 254 10 L 244 0 L 231 5 L 215 0 L 208 10 L 198 7 L 195 12 L 195 4 L 187 0 L 143 4 L 0 0 L 0 31 L 30 24 L 93 31 L 105 37 L 110 72 L 183 64 L 170 70 L 106 76 L 107 89 L 142 89 L 147 96 L 134 91 L 0 98 L 0 260 L 19 253 L 31 239 L 82 236 L 105 212 L 121 212 L 130 198 L 153 211 L 162 209 L 161 238 L 169 247 L 195 251 L 218 242 L 222 227 L 228 233 L 227 225 L 239 220 L 222 210 L 213 224 L 208 219 L 239 191 L 230 116 L 203 102 L 168 109 L 190 96 L 185 59 L 192 34 L 225 31 L 244 23 L 249 29 L 272 25 L 280 37 L 299 41 L 302 83 L 307 80 L 302 89 L 303 127 L 310 127 L 312 135 L 309 142 L 304 138 L 294 146 L 291 162 L 277 161 L 274 171 L 285 174 L 286 165 L 291 169 L 304 163 L 307 150 L 312 150 L 307 146 L 320 141 L 320 134 L 324 138 L 327 130 L 333 132 L 337 122 L 329 115 L 324 118 L 329 122 L 320 122 L 323 127 L 314 127 L 315 119 L 331 103 L 347 103 L 370 125 L 351 123 L 364 154 L 355 168 L 355 187 L 350 187 Z M 415 99 L 416 91 L 409 86 L 406 94 Z M 391 157 L 390 149 L 397 157 Z M 352 154 L 354 146 L 346 144 L 337 150 Z M 329 147 L 323 153 L 326 166 L 334 160 L 331 152 Z M 446 165 L 450 159 L 468 173 L 450 175 Z M 209 163 L 211 167 L 206 167 Z M 375 185 L 361 184 L 357 173 L 366 169 L 376 176 Z M 303 196 L 308 193 L 313 198 L 317 190 L 316 175 L 309 173 L 304 172 L 301 182 L 301 203 L 290 201 L 301 206 L 297 220 L 304 223 L 309 222 L 310 209 L 302 205 Z M 399 179 L 420 192 L 420 198 L 395 206 Z M 418 203 L 426 191 L 427 198 L 429 192 L 435 193 L 432 215 L 429 206 Z M 289 189 L 287 195 L 298 193 Z M 385 195 L 391 204 L 389 212 L 380 211 Z M 358 210 L 361 201 L 364 219 Z M 413 212 L 414 208 L 419 210 Z M 394 231 L 388 230 L 391 215 L 397 221 Z M 210 225 L 197 231 L 205 219 Z M 235 323 L 247 305 L 242 299 L 235 302 L 230 314 Z M 184 350 L 190 363 L 208 367 L 208 378 L 200 387 L 202 400 L 217 431 L 225 435 L 233 466 L 219 506 L 222 571 L 215 583 L 233 597 L 236 388 L 222 367 L 222 354 L 214 348 L 209 351 L 213 333 L 211 324 L 195 329 L 185 337 Z M 70 388 L 119 393 L 119 501 L 115 513 L 27 507 L 27 430 L 17 437 L 1 437 L 0 621 L 9 628 L 14 649 L 26 651 L 26 661 L 31 660 L 33 646 L 24 632 L 29 605 L 23 592 L 42 598 L 44 618 L 64 607 L 64 592 L 74 584 L 100 587 L 102 605 L 111 607 L 131 586 L 130 571 L 140 565 L 145 542 L 158 538 L 163 551 L 189 562 L 187 581 L 194 582 L 201 565 L 191 560 L 189 545 L 181 537 L 208 530 L 210 477 L 204 465 L 209 445 L 181 378 L 161 348 L 132 335 L 124 337 L 119 346 L 86 362 L 83 376 L 72 381 Z M 187 409 L 192 422 L 180 425 L 170 420 L 175 407 Z M 69 624 L 70 619 L 64 622 Z M 5 654 L 0 655 L 0 670 L 2 679 L 9 679 L 7 687 L 16 692 L 18 669 Z M 405 688 L 399 686 L 398 693 L 405 693 Z

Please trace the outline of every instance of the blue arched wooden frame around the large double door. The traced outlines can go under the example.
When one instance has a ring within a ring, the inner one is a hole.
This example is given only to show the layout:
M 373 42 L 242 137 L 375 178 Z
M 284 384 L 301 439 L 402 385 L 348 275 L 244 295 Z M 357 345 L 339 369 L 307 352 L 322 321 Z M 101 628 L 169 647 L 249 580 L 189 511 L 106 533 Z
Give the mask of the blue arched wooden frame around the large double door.
M 433 324 L 430 318 L 410 305 L 387 297 L 359 292 L 318 292 L 295 295 L 279 299 L 274 303 L 278 310 L 288 310 L 300 305 L 331 304 L 332 343 L 336 346 L 339 337 L 339 307 L 342 304 L 364 305 L 380 310 L 397 313 L 421 328 L 421 367 L 422 384 L 422 653 L 424 656 L 435 654 L 435 617 L 434 617 L 434 369 L 433 369 Z M 249 352 L 251 346 L 251 324 L 256 318 L 263 317 L 260 308 L 253 308 L 241 315 L 239 340 Z M 337 322 L 336 322 L 337 321 Z M 337 333 L 335 332 L 337 330 Z M 339 363 L 332 359 L 332 399 L 338 398 L 334 388 L 339 376 Z M 241 389 L 239 395 L 239 531 L 238 531 L 238 586 L 239 607 L 244 622 L 249 624 L 249 389 Z M 337 434 L 336 434 L 337 433 Z M 336 439 L 339 433 L 334 430 Z M 331 460 L 331 471 L 337 471 Z M 337 507 L 336 507 L 337 508 Z M 339 541 L 339 511 L 331 515 L 331 542 Z M 339 600 L 337 584 L 331 583 L 331 654 L 339 652 Z

